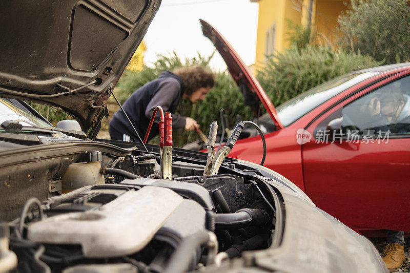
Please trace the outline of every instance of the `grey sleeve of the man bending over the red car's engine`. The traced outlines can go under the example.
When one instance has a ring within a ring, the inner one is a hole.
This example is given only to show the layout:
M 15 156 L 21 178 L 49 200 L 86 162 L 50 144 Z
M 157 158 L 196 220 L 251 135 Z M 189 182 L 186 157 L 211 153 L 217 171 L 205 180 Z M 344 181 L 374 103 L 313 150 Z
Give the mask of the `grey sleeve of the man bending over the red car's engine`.
M 158 91 L 152 97 L 148 103 L 147 109 L 145 111 L 145 116 L 151 118 L 155 107 L 158 105 L 162 107 L 163 112 L 168 112 L 173 103 L 179 100 L 180 96 L 180 85 L 179 82 L 174 79 L 164 79 L 159 83 Z M 172 126 L 173 128 L 185 128 L 186 117 L 182 117 L 178 114 L 171 113 L 172 116 Z M 159 121 L 159 111 L 155 114 L 155 123 Z

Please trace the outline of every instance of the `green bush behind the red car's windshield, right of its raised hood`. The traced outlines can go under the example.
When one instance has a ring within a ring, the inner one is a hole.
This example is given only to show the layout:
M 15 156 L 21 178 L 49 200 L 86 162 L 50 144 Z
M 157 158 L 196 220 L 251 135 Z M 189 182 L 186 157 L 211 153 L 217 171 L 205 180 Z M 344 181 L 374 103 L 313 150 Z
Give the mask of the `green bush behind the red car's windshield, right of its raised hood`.
M 293 46 L 276 53 L 258 70 L 259 83 L 275 106 L 309 90 L 320 83 L 352 70 L 378 66 L 370 56 L 345 53 L 330 47 Z

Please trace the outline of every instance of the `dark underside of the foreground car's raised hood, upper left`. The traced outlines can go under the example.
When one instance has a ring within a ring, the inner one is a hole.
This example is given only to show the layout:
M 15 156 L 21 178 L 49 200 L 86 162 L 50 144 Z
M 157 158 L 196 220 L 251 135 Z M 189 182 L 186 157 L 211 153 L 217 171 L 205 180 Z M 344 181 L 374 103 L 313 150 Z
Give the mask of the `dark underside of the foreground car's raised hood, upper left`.
M 0 96 L 45 103 L 94 138 L 161 0 L 3 1 Z

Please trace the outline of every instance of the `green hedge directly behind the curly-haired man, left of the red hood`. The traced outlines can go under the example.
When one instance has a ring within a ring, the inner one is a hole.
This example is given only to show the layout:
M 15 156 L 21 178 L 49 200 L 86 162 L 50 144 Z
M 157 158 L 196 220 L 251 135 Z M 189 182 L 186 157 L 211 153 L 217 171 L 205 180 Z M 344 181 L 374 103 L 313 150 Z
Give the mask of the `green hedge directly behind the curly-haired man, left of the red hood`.
M 148 81 L 155 79 L 161 72 L 196 64 L 209 67 L 209 61 L 213 55 L 204 57 L 198 54 L 197 57 L 185 59 L 185 61 L 182 61 L 175 52 L 170 56 L 159 55 L 153 68 L 145 67 L 139 72 L 126 71 L 115 87 L 114 93 L 122 103 L 135 90 L 145 85 Z M 215 87 L 203 101 L 192 104 L 189 100 L 182 99 L 176 110 L 182 116 L 189 116 L 197 120 L 205 134 L 208 134 L 209 125 L 213 120 L 217 120 L 219 123 L 219 111 L 221 108 L 224 108 L 224 113 L 227 114 L 231 126 L 236 120 L 237 115 L 240 115 L 242 119 L 253 117 L 251 109 L 248 106 L 244 106 L 243 96 L 231 75 L 227 72 L 217 72 L 215 76 Z M 175 134 L 174 143 L 178 146 L 196 139 L 198 139 L 198 136 L 195 132 L 180 130 Z M 156 143 L 155 141 L 154 143 Z

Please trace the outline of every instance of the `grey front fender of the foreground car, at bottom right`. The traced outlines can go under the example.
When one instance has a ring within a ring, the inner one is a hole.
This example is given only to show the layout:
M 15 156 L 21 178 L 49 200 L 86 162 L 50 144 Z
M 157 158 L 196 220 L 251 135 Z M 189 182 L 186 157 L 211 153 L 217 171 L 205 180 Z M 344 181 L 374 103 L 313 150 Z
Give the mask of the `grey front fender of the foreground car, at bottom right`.
M 339 225 L 321 209 L 306 206 L 288 189 L 278 186 L 278 190 L 286 208 L 282 244 L 266 253 L 255 253 L 255 264 L 283 272 L 388 272 L 366 238 Z M 315 255 L 310 256 L 308 249 L 314 249 Z M 305 263 L 293 262 L 300 259 Z M 354 262 L 349 262 L 352 259 Z

